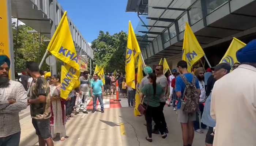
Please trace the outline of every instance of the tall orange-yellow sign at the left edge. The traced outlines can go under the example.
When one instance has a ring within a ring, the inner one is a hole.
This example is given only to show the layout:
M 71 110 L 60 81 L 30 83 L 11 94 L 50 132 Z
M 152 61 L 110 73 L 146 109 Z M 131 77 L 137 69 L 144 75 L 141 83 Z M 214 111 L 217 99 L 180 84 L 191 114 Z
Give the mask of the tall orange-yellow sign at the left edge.
M 10 58 L 8 21 L 7 0 L 0 0 L 0 55 Z

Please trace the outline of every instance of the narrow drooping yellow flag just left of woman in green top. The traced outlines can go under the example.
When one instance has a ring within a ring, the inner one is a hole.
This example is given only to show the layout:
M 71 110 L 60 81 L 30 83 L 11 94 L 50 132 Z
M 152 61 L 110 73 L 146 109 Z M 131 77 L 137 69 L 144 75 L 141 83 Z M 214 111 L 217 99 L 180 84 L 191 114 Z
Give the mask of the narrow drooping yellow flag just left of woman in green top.
M 138 59 L 138 73 L 137 73 L 137 85 L 136 85 L 136 95 L 135 95 L 135 108 L 134 108 L 134 115 L 138 116 L 140 115 L 140 112 L 138 111 L 138 106 L 140 104 L 140 91 L 139 91 L 139 86 L 140 86 L 140 82 L 143 78 L 143 70 L 144 67 L 144 63 L 142 61 L 142 57 L 141 55 L 139 55 L 139 59 Z

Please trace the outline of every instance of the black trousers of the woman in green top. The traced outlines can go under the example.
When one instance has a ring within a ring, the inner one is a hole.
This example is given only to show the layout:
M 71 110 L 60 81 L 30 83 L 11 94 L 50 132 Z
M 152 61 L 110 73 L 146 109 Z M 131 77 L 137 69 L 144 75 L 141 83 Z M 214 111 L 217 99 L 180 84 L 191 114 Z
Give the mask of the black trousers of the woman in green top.
M 144 104 L 144 103 L 143 103 Z M 147 106 L 146 104 L 144 104 Z M 160 113 L 161 113 L 161 107 L 151 107 L 147 106 L 146 114 L 145 114 L 145 119 L 147 122 L 147 133 L 148 137 L 152 138 L 152 119 L 155 122 L 155 125 L 159 127 L 159 131 L 161 134 L 163 134 L 163 124 L 160 122 Z

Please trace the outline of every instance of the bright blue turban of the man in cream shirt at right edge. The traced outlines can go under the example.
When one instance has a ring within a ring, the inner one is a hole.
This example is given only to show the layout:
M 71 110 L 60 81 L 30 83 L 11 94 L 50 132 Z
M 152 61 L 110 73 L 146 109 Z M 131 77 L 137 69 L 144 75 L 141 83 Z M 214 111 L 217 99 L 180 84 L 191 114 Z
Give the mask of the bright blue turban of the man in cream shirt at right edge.
M 256 39 L 249 42 L 246 46 L 242 47 L 236 53 L 237 60 L 243 62 L 256 62 Z

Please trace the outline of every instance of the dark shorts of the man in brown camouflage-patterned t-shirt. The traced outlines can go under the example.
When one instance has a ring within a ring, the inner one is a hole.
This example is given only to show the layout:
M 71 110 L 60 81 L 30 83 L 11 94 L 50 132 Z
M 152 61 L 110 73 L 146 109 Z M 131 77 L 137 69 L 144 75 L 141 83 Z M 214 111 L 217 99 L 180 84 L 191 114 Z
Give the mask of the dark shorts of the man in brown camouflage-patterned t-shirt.
M 32 124 L 35 127 L 35 134 L 40 135 L 44 139 L 51 137 L 50 118 L 42 120 L 32 118 Z

